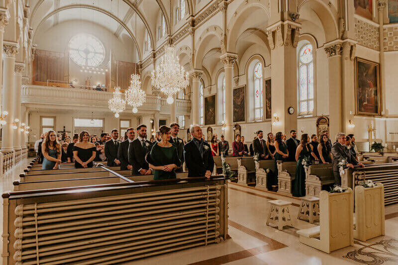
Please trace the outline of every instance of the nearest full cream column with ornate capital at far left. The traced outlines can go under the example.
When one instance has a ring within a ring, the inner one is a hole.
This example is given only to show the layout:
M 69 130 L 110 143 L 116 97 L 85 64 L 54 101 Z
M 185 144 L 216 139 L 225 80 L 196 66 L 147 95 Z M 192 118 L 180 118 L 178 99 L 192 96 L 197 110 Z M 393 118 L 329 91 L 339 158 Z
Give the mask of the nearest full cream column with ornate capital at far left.
M 15 55 L 18 53 L 19 45 L 17 42 L 4 41 L 3 52 L 3 89 L 2 89 L 2 111 L 7 111 L 5 118 L 7 124 L 3 125 L 1 151 L 12 151 L 14 130 L 14 71 Z

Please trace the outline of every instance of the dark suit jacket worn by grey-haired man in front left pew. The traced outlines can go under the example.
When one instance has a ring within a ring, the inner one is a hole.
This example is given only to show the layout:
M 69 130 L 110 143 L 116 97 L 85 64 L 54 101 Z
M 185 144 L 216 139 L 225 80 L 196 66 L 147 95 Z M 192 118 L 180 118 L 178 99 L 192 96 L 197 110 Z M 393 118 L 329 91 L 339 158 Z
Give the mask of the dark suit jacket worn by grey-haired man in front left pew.
M 210 146 L 206 142 L 203 145 L 203 147 L 207 146 L 207 150 L 204 150 L 203 158 L 200 156 L 194 140 L 189 141 L 184 146 L 184 159 L 188 168 L 188 177 L 204 177 L 207 170 L 213 172 L 214 160 Z

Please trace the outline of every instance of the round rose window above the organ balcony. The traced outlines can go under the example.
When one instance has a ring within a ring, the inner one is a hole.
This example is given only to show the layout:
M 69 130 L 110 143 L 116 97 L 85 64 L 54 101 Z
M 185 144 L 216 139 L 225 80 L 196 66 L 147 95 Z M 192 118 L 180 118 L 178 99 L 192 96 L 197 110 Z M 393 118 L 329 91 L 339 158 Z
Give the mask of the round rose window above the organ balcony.
M 100 40 L 92 35 L 79 34 L 69 42 L 72 60 L 80 66 L 99 66 L 105 57 L 105 48 Z

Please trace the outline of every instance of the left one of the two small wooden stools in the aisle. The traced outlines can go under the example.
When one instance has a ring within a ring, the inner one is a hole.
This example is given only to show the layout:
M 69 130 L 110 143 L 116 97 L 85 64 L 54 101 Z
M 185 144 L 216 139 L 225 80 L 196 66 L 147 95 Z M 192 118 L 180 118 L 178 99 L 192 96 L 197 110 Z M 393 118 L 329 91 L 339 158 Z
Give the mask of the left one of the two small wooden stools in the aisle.
M 266 225 L 272 223 L 282 230 L 285 225 L 293 227 L 292 219 L 290 218 L 290 201 L 284 200 L 270 200 L 270 207 L 268 210 L 268 218 Z

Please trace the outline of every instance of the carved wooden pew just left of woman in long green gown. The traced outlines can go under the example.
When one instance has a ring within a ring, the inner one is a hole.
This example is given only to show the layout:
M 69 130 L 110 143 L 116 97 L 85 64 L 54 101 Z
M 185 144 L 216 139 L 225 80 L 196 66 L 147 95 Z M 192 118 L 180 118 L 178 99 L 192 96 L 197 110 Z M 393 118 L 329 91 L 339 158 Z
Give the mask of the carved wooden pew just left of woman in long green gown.
M 278 161 L 278 193 L 292 196 L 292 183 L 296 175 L 296 162 Z

